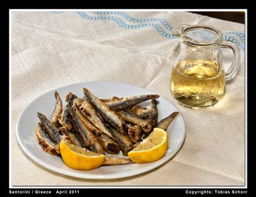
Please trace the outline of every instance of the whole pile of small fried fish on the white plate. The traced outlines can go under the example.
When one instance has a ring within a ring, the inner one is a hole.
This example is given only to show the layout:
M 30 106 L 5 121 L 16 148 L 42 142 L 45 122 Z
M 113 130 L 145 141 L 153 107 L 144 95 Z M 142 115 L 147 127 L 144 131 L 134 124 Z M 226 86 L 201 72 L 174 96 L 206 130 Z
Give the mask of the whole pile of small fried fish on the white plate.
M 65 96 L 63 109 L 60 95 L 55 91 L 55 109 L 50 118 L 38 113 L 41 123 L 36 128 L 39 145 L 49 154 L 60 156 L 59 143 L 68 139 L 74 145 L 99 154 L 127 155 L 155 128 L 166 130 L 178 112 L 171 113 L 157 125 L 156 99 L 159 95 L 147 94 L 111 99 L 99 99 L 88 89 L 82 89 L 82 99 L 73 93 Z M 137 105 L 150 101 L 149 108 Z M 107 155 L 105 165 L 128 164 L 130 159 Z

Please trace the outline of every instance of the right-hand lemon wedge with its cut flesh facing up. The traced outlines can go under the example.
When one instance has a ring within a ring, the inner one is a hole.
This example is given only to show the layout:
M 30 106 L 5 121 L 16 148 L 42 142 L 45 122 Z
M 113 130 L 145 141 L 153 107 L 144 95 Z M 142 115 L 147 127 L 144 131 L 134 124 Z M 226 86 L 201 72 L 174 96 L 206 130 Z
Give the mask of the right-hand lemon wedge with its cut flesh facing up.
M 164 156 L 168 148 L 168 135 L 161 128 L 154 128 L 145 140 L 128 152 L 132 162 L 142 164 L 154 162 Z

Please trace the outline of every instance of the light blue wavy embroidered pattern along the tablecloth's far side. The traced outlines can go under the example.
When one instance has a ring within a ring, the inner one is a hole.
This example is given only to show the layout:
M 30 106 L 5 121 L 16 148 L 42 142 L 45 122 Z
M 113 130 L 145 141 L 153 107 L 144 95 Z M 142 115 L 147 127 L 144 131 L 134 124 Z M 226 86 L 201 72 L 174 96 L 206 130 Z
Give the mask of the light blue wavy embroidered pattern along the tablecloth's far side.
M 66 11 L 53 11 L 53 13 L 65 13 Z M 143 18 L 137 19 L 129 16 L 128 13 L 124 11 L 75 11 L 78 16 L 86 20 L 105 20 L 105 21 L 114 21 L 122 28 L 144 28 L 144 27 L 153 27 L 160 35 L 165 38 L 176 38 L 171 34 L 171 31 L 174 29 L 165 18 Z M 121 16 L 122 18 L 119 18 Z M 124 21 L 125 20 L 125 21 Z M 135 24 L 127 24 L 135 23 Z M 169 33 L 168 33 L 169 32 Z M 240 50 L 245 50 L 245 34 L 238 31 L 225 31 L 223 32 L 223 39 L 229 40 L 240 48 Z

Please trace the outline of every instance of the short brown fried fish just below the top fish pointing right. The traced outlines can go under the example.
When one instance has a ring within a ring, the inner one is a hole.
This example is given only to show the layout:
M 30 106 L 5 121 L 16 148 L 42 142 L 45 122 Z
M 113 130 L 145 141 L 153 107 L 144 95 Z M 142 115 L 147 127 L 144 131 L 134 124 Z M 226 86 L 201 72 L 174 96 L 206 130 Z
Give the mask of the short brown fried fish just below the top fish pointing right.
M 123 118 L 125 121 L 129 123 L 134 123 L 135 125 L 139 125 L 141 127 L 145 127 L 146 124 L 149 123 L 147 120 L 142 120 L 142 118 L 139 118 L 139 116 L 135 115 L 132 112 L 129 111 L 119 111 L 117 114 Z

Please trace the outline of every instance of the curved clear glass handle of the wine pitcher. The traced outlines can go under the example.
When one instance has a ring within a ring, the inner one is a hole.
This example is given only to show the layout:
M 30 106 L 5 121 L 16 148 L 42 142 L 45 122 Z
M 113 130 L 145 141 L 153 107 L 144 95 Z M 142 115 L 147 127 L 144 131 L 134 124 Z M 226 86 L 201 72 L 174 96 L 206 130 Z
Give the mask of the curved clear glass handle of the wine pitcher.
M 228 71 L 225 72 L 225 80 L 229 81 L 230 79 L 233 79 L 233 77 L 235 77 L 235 74 L 238 72 L 238 69 L 240 67 L 240 50 L 238 45 L 235 45 L 228 40 L 223 40 L 221 47 L 232 49 L 234 53 L 233 62 Z

